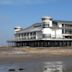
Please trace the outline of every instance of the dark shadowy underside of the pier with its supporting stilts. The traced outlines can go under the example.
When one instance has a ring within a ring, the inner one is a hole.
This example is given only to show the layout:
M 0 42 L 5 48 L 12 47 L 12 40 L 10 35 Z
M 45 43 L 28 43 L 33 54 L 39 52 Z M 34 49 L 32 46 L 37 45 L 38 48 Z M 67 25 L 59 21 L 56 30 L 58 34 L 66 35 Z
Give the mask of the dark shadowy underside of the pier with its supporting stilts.
M 23 47 L 64 47 L 72 46 L 72 40 L 33 40 L 33 41 L 11 41 L 11 46 Z

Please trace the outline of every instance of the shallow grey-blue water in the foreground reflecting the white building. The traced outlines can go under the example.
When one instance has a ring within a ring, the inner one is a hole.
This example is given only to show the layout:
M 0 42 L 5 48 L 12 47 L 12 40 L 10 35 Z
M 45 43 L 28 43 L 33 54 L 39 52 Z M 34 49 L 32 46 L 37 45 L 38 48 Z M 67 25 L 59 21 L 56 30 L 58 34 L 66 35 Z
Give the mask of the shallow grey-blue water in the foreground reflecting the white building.
M 0 64 L 0 72 L 72 72 L 72 56 Z

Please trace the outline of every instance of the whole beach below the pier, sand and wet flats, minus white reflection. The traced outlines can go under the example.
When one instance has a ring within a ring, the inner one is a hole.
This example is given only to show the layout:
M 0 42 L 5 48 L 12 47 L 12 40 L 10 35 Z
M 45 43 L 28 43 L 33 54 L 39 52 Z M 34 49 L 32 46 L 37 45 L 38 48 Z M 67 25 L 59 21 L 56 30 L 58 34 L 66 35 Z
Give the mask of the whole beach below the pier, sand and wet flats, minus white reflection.
M 61 63 L 63 72 L 72 71 L 71 48 L 1 47 L 0 71 L 44 72 L 47 63 Z M 54 63 L 54 64 L 53 64 Z M 49 65 L 48 65 L 49 66 Z M 55 65 L 57 66 L 57 65 Z M 56 67 L 57 68 L 57 67 Z

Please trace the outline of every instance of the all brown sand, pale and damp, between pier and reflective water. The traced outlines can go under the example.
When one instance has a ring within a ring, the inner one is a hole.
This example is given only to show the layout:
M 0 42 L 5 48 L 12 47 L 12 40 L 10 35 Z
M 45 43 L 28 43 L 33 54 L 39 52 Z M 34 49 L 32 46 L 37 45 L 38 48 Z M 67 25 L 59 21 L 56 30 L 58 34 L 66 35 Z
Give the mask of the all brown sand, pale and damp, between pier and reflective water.
M 0 48 L 0 63 L 14 63 L 44 59 L 46 57 L 72 56 L 71 48 Z

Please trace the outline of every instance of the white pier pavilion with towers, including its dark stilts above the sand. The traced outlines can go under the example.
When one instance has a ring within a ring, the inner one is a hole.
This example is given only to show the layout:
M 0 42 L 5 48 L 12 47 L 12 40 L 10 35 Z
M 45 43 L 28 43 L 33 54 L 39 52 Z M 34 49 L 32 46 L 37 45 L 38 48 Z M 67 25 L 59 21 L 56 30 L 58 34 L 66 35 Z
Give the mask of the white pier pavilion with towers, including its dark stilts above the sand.
M 54 20 L 52 17 L 41 18 L 25 29 L 15 27 L 15 34 L 9 43 L 14 46 L 72 46 L 72 21 Z

